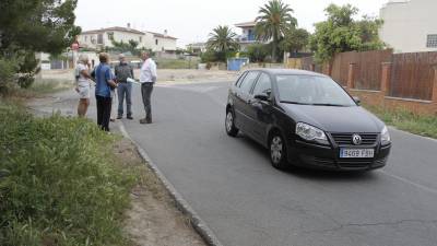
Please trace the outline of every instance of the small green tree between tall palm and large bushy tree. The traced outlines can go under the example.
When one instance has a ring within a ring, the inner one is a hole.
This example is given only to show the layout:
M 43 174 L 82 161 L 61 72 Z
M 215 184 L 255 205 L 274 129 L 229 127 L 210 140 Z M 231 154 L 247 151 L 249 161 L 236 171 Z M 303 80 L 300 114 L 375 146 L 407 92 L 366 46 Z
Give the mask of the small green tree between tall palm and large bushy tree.
M 304 28 L 290 28 L 285 32 L 284 39 L 280 47 L 284 51 L 298 52 L 309 43 L 309 33 Z

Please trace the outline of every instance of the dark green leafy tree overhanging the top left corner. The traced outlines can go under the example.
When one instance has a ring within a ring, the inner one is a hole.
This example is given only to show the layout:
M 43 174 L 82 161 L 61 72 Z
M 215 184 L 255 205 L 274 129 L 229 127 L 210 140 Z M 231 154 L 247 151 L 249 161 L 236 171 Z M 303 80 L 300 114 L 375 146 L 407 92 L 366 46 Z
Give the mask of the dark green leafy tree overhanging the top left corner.
M 32 82 L 33 75 L 38 71 L 35 52 L 60 54 L 81 33 L 81 28 L 74 25 L 76 2 L 1 0 L 0 60 L 14 62 L 7 70 L 20 75 L 15 77 L 20 78 L 16 82 L 22 85 L 29 85 Z M 11 77 L 0 77 L 0 83 L 10 81 L 9 78 Z

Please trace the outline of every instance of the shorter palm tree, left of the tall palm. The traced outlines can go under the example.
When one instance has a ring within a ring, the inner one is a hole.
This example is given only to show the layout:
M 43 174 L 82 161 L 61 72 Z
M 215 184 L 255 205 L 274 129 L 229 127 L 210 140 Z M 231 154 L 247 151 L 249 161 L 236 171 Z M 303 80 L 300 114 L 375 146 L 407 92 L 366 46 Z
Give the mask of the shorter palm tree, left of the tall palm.
M 220 25 L 210 33 L 206 46 L 221 54 L 226 54 L 229 50 L 238 50 L 239 44 L 236 40 L 237 34 L 234 33 L 228 26 Z

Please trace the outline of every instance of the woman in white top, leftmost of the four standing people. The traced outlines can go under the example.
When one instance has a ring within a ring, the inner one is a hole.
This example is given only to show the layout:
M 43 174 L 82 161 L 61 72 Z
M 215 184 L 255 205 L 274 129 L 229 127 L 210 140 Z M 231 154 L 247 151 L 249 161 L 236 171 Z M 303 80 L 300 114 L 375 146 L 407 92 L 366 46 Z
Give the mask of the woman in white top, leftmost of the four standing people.
M 75 69 L 75 91 L 80 96 L 78 105 L 79 117 L 85 117 L 90 106 L 91 75 L 87 66 L 88 57 L 86 55 L 80 55 Z

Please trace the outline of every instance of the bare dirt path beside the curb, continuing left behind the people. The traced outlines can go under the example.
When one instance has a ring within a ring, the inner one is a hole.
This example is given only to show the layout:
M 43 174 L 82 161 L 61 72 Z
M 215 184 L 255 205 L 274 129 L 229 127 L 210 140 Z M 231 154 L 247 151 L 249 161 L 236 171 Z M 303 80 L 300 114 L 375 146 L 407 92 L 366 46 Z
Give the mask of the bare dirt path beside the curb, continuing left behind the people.
M 76 96 L 72 90 L 36 98 L 27 107 L 39 116 L 52 113 L 74 117 Z M 88 116 L 95 112 L 90 108 Z M 118 131 L 113 124 L 113 132 Z M 126 212 L 125 230 L 137 246 L 204 246 L 204 242 L 191 227 L 188 218 L 176 209 L 175 202 L 161 180 L 138 154 L 127 139 L 114 147 L 120 165 L 139 169 L 141 183 L 131 192 L 131 208 Z

